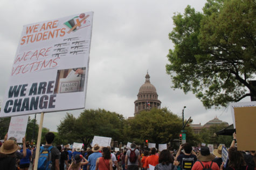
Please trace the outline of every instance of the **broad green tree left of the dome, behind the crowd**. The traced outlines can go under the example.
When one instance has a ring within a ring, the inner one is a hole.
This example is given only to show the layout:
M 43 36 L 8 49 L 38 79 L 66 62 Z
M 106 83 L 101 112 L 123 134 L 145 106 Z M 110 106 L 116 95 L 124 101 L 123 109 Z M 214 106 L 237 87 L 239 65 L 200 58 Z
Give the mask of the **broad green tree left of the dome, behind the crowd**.
M 65 143 L 82 142 L 88 146 L 94 136 L 112 137 L 114 141 L 123 140 L 122 115 L 104 109 L 84 110 L 78 118 L 66 114 L 58 125 L 60 138 Z

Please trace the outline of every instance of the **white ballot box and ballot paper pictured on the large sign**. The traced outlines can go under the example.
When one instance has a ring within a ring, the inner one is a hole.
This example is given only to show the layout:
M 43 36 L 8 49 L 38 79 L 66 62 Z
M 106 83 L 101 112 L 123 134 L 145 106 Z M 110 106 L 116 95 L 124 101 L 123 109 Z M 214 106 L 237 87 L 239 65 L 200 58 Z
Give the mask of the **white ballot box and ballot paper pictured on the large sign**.
M 60 78 L 59 93 L 77 92 L 79 91 L 81 76 L 71 70 L 66 78 Z

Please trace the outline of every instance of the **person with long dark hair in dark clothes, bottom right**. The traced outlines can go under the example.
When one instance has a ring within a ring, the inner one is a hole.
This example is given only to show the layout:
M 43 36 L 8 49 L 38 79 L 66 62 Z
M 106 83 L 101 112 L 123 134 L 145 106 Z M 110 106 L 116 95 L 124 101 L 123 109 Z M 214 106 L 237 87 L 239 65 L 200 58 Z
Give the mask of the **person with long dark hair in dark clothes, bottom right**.
M 248 166 L 244 160 L 243 153 L 237 150 L 237 147 L 230 147 L 229 149 L 229 163 L 225 170 L 246 170 Z M 224 162 L 220 166 L 220 170 L 224 169 Z

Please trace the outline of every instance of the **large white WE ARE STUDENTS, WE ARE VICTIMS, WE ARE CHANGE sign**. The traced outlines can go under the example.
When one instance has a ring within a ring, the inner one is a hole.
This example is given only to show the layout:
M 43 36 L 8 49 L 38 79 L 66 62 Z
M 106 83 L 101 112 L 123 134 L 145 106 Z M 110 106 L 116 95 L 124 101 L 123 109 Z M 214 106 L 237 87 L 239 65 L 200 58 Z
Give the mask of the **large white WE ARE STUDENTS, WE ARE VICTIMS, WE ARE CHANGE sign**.
M 93 12 L 25 25 L 0 117 L 85 108 Z

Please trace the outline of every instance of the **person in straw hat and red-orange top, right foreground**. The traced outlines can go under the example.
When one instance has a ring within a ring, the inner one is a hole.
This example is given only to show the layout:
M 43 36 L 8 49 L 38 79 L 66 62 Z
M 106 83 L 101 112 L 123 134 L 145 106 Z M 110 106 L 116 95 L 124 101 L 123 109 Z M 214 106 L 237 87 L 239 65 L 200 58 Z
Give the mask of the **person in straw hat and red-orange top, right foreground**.
M 209 147 L 202 146 L 197 159 L 198 161 L 193 164 L 192 170 L 203 170 L 207 168 L 212 170 L 219 170 L 218 164 L 212 161 L 215 159 L 215 156 L 210 153 Z

